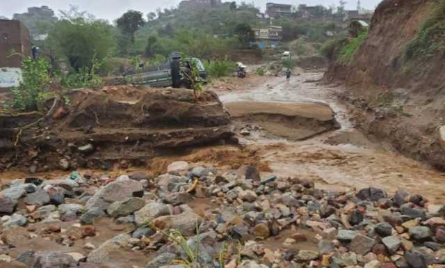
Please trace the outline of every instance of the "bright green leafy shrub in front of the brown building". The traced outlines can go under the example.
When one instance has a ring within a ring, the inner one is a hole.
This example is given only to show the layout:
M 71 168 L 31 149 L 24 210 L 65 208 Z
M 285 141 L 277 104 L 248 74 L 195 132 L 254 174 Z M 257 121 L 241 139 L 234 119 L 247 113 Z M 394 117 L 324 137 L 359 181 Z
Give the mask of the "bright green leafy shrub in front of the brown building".
M 44 58 L 33 61 L 30 57 L 22 63 L 23 80 L 11 90 L 13 99 L 8 106 L 17 111 L 35 111 L 48 97 L 51 77 L 49 63 Z

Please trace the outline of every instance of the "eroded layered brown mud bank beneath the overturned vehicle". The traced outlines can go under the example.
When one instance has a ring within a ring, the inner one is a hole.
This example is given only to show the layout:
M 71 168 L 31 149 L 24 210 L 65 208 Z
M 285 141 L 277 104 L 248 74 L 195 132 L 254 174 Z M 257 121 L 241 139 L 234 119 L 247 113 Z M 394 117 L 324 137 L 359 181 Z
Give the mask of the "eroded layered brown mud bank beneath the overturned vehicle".
M 0 118 L 0 168 L 143 165 L 190 146 L 232 141 L 229 115 L 214 93 L 205 92 L 195 102 L 191 90 L 140 88 L 136 98 L 118 94 L 125 90 L 74 91 L 70 107 L 60 107 L 52 120 L 25 129 L 17 147 L 17 128 L 35 116 Z

